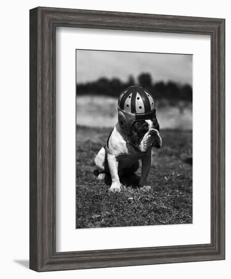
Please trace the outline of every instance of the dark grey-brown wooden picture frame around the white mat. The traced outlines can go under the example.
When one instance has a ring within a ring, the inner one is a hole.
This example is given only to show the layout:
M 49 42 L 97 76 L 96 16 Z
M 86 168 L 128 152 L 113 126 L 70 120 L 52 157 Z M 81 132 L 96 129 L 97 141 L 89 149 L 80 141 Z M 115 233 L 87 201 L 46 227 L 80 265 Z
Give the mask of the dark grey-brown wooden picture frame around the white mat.
M 56 252 L 56 27 L 211 37 L 211 243 Z M 38 7 L 30 10 L 30 269 L 148 265 L 225 258 L 225 20 Z

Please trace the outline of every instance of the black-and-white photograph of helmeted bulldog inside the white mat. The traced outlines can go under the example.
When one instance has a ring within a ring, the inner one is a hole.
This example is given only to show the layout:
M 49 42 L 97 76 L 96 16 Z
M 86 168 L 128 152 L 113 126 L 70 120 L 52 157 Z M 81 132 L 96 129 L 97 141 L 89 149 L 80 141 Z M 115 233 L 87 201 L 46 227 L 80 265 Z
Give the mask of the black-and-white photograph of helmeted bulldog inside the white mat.
M 76 229 L 193 223 L 193 55 L 76 50 Z

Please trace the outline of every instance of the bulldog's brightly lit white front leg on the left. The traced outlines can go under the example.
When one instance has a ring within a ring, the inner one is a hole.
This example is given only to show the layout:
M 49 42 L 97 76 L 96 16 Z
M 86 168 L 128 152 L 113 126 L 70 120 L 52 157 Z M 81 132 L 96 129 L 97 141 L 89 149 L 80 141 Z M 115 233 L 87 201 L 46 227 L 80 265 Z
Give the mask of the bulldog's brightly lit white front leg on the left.
M 111 182 L 112 182 L 109 190 L 112 192 L 120 192 L 121 183 L 118 175 L 118 165 L 119 165 L 118 160 L 115 156 L 108 154 L 107 162 L 108 162 L 108 167 L 109 167 Z

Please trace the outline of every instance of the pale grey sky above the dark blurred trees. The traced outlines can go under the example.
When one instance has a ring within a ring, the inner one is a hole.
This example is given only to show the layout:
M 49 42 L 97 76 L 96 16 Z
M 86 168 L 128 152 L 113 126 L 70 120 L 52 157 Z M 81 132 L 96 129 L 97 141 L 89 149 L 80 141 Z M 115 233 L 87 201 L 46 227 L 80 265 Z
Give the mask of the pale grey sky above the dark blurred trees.
M 149 73 L 154 83 L 173 81 L 193 85 L 193 55 L 76 50 L 76 82 L 106 77 L 127 81 Z

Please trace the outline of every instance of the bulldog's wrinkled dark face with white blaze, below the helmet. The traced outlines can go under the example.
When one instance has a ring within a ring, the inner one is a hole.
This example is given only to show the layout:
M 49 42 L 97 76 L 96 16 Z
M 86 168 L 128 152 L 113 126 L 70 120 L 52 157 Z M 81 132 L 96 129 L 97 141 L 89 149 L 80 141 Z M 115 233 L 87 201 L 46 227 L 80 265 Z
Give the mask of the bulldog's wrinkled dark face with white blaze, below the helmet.
M 146 152 L 150 147 L 161 148 L 162 139 L 157 118 L 136 121 L 132 125 L 129 140 L 141 152 Z

